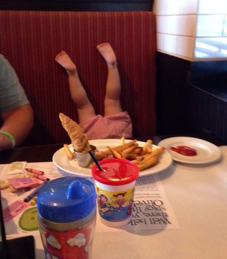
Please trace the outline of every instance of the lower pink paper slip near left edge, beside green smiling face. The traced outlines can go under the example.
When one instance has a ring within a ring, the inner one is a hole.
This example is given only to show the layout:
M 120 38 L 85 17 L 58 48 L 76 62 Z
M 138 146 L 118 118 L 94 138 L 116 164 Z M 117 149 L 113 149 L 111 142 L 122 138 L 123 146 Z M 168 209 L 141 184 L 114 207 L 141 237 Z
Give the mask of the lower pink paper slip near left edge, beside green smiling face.
M 2 210 L 4 221 L 7 221 L 7 220 L 17 216 L 19 213 L 21 213 L 23 210 L 25 210 L 29 206 L 30 206 L 29 203 L 23 202 L 22 200 L 17 200 L 15 202 L 11 203 L 8 207 L 6 207 Z

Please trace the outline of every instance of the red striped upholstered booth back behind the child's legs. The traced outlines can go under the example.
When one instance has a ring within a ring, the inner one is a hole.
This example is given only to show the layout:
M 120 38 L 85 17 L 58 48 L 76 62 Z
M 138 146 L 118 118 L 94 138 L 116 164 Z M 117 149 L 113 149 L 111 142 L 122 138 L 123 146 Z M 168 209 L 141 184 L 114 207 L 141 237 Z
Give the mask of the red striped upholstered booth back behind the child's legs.
M 0 53 L 11 62 L 35 112 L 27 145 L 70 142 L 59 112 L 77 121 L 65 70 L 65 50 L 77 66 L 97 114 L 104 111 L 107 67 L 96 45 L 109 42 L 118 59 L 121 103 L 133 137 L 156 131 L 156 26 L 152 12 L 0 11 Z

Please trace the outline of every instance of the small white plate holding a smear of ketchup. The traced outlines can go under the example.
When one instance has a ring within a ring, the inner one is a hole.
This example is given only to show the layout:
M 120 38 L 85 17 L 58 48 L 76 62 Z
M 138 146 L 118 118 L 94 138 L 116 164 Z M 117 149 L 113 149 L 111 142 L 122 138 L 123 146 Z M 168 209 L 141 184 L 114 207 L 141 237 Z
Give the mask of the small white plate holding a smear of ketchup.
M 215 162 L 221 157 L 220 148 L 214 144 L 195 137 L 170 137 L 163 139 L 158 143 L 159 146 L 165 147 L 171 154 L 172 159 L 182 163 L 205 164 Z M 196 149 L 196 156 L 185 156 L 170 150 L 170 147 L 188 146 Z

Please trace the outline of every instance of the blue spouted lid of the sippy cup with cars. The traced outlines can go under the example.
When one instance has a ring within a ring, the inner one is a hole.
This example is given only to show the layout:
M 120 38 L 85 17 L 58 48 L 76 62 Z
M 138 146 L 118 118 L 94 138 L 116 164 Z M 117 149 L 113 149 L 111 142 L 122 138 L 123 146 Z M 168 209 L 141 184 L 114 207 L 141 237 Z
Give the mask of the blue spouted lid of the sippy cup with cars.
M 38 214 L 52 222 L 73 222 L 87 217 L 96 206 L 94 184 L 82 177 L 61 177 L 37 193 Z

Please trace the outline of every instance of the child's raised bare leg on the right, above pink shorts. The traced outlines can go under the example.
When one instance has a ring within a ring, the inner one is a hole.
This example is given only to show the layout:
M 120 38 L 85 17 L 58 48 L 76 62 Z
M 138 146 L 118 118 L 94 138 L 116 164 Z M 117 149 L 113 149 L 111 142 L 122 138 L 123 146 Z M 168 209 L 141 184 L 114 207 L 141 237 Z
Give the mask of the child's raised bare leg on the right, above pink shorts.
M 97 49 L 107 62 L 108 68 L 106 94 L 104 100 L 104 115 L 112 115 L 118 112 L 122 112 L 119 99 L 121 83 L 114 50 L 109 43 L 101 43 L 97 46 Z

